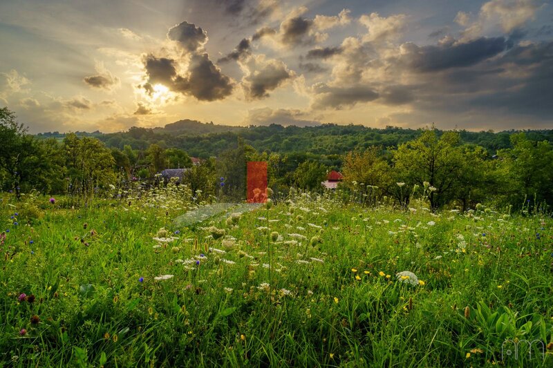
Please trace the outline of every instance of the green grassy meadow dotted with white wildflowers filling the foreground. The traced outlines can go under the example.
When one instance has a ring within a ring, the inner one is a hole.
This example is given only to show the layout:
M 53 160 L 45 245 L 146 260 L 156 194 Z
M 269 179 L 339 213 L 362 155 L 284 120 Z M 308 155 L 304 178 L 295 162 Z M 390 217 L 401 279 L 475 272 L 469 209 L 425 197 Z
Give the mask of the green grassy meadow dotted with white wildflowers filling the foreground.
M 3 195 L 0 365 L 553 365 L 550 215 L 188 194 Z

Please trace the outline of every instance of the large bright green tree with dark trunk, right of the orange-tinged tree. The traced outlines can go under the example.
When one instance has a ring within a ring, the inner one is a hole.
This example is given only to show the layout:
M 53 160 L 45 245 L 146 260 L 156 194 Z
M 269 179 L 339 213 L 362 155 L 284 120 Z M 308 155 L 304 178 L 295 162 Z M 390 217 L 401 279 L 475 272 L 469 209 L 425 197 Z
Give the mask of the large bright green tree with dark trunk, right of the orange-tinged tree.
M 438 138 L 436 131 L 431 129 L 401 144 L 395 151 L 393 162 L 398 181 L 421 187 L 429 182 L 436 188 L 429 193 L 432 210 L 454 197 L 454 186 L 463 166 L 459 142 L 457 132 L 446 132 Z M 408 200 L 408 197 L 403 199 Z

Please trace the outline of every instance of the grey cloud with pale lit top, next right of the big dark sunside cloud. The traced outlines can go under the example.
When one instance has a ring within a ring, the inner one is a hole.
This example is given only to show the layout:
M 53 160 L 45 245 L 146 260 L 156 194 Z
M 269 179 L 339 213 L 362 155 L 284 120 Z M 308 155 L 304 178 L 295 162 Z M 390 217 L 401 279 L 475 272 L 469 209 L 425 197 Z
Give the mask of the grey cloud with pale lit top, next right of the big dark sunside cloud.
M 268 97 L 271 90 L 292 77 L 282 61 L 270 60 L 259 64 L 262 65 L 256 66 L 254 72 L 243 79 L 246 96 L 250 99 Z

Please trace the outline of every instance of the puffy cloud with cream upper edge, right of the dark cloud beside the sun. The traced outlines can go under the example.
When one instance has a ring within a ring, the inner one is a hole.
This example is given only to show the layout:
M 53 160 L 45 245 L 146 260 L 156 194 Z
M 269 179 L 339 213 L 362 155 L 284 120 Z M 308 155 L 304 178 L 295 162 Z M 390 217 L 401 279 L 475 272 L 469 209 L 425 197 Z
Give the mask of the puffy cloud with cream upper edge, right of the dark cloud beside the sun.
M 251 56 L 239 65 L 245 74 L 242 86 L 247 99 L 269 97 L 270 91 L 294 76 L 282 61 L 266 59 L 265 55 Z

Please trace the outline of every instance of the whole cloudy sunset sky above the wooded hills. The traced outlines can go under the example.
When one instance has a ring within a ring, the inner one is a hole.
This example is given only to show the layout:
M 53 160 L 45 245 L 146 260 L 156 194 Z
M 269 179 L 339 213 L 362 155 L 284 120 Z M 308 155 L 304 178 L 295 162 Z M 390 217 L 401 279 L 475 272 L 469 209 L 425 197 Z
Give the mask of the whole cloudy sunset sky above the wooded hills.
M 0 107 L 30 133 L 553 128 L 553 3 L 0 0 Z

